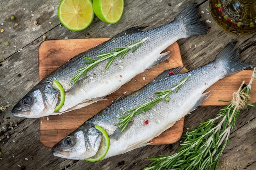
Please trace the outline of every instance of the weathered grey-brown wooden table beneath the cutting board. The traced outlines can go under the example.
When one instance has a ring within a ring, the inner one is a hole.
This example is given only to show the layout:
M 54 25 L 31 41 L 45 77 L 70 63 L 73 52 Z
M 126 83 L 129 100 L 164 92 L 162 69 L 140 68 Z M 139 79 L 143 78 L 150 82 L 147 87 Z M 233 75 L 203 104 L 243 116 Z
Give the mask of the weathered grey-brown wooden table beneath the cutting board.
M 57 15 L 59 0 L 0 0 L 0 169 L 1 170 L 130 170 L 142 169 L 147 157 L 177 152 L 179 141 L 171 145 L 150 145 L 96 163 L 54 157 L 51 148 L 40 143 L 39 119 L 24 119 L 11 115 L 11 109 L 38 82 L 38 47 L 43 41 L 75 38 L 109 38 L 132 26 L 148 29 L 171 22 L 175 15 L 192 2 L 201 3 L 202 20 L 211 27 L 206 35 L 178 41 L 183 64 L 189 70 L 207 64 L 228 42 L 238 41 L 241 58 L 256 65 L 256 34 L 234 35 L 222 30 L 209 13 L 209 1 L 203 0 L 125 0 L 120 22 L 106 24 L 97 17 L 88 29 L 73 32 L 63 27 Z M 168 5 L 168 3 L 170 3 Z M 15 20 L 7 19 L 11 15 Z M 17 24 L 18 25 L 17 25 Z M 16 25 L 15 25 L 16 24 Z M 9 42 L 9 46 L 4 43 Z M 68 44 L 67 44 L 68 45 Z M 213 118 L 221 107 L 198 107 L 185 117 L 186 128 Z M 220 159 L 219 170 L 256 170 L 256 108 L 242 110 L 231 133 L 229 145 Z M 68 121 L 68 120 L 67 120 Z

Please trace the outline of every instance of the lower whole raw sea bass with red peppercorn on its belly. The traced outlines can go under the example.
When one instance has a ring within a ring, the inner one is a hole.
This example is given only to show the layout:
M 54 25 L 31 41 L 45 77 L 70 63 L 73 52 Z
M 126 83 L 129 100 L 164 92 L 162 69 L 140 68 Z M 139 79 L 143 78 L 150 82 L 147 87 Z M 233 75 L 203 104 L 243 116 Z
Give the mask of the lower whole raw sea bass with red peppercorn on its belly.
M 239 55 L 237 49 L 233 50 L 235 44 L 225 46 L 216 59 L 207 65 L 187 73 L 170 75 L 175 69 L 165 71 L 139 90 L 113 102 L 58 142 L 52 148 L 53 155 L 67 159 L 86 159 L 95 155 L 101 139 L 101 132 L 95 129 L 96 125 L 106 130 L 110 138 L 109 150 L 103 159 L 150 144 L 151 139 L 173 126 L 207 99 L 210 94 L 204 91 L 212 84 L 251 66 L 235 59 Z M 189 75 L 183 86 L 171 93 L 169 101 L 162 99 L 148 111 L 135 115 L 121 132 L 117 124 L 121 121 L 120 117 L 129 114 L 126 110 L 155 99 L 155 92 L 171 89 Z

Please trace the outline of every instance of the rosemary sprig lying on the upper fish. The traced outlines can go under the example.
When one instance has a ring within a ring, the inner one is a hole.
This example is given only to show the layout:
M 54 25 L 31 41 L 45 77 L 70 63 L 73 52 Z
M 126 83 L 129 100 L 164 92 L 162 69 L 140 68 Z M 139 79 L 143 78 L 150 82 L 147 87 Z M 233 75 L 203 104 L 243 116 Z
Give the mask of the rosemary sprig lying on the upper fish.
M 112 62 L 114 61 L 115 58 L 121 56 L 121 59 L 124 58 L 124 56 L 128 53 L 128 51 L 130 49 L 132 49 L 133 47 L 135 47 L 133 50 L 132 50 L 132 53 L 135 52 L 139 46 L 148 39 L 149 37 L 147 38 L 144 38 L 143 40 L 139 40 L 137 42 L 133 42 L 131 44 L 129 44 L 128 46 L 126 47 L 114 47 L 113 49 L 117 49 L 115 52 L 110 52 L 110 53 L 102 53 L 100 52 L 101 54 L 100 55 L 97 55 L 97 57 L 99 57 L 99 59 L 93 59 L 93 58 L 89 58 L 89 57 L 85 57 L 83 56 L 85 59 L 87 59 L 88 61 L 85 61 L 84 63 L 85 64 L 88 64 L 87 66 L 83 67 L 83 68 L 79 68 L 77 71 L 80 71 L 77 75 L 75 75 L 71 81 L 73 81 L 74 83 L 76 83 L 79 79 L 79 77 L 81 75 L 83 75 L 83 77 L 85 77 L 86 73 L 88 71 L 90 71 L 94 66 L 96 66 L 97 64 L 99 64 L 100 62 L 104 61 L 104 60 L 107 60 L 110 58 L 110 60 L 108 61 L 107 65 L 106 65 L 106 68 L 105 69 L 108 69 L 108 67 L 112 64 Z

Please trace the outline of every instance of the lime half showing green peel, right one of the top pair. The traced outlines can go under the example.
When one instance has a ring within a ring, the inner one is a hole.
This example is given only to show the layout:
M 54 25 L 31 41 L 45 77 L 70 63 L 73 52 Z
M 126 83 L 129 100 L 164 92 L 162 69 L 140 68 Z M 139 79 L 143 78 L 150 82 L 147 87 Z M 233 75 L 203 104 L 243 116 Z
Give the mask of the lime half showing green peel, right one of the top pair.
M 123 15 L 124 0 L 93 0 L 92 7 L 101 21 L 115 24 Z

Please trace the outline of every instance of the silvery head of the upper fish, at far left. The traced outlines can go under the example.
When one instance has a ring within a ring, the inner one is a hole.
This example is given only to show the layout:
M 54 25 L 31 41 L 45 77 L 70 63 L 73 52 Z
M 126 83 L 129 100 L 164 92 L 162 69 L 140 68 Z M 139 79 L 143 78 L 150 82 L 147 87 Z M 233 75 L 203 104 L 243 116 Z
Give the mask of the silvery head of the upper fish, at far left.
M 23 97 L 11 110 L 14 116 L 39 118 L 48 116 L 54 112 L 58 103 L 59 91 L 50 83 L 43 84 L 39 88 L 35 86 Z

